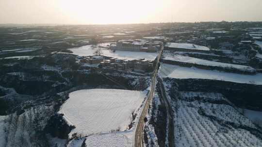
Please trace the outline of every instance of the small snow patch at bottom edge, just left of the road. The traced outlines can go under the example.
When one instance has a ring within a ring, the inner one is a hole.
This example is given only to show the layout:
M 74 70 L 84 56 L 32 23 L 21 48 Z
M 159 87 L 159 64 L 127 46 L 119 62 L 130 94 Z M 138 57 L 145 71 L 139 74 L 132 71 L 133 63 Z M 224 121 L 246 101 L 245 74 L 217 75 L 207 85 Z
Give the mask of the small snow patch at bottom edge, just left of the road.
M 87 147 L 132 147 L 132 132 L 113 132 L 86 137 Z

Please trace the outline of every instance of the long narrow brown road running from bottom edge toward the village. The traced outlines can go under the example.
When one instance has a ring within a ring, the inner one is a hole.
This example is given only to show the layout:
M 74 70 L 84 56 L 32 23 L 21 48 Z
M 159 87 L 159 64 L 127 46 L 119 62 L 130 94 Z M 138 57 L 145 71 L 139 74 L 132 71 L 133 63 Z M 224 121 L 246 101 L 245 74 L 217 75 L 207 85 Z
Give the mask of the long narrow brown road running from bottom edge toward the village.
M 152 99 L 153 99 L 153 96 L 154 96 L 154 93 L 155 93 L 155 81 L 156 81 L 156 76 L 157 76 L 157 72 L 158 72 L 159 60 L 162 56 L 163 49 L 164 49 L 164 46 L 162 46 L 162 48 L 159 52 L 159 55 L 157 56 L 156 66 L 155 66 L 155 70 L 154 70 L 154 73 L 153 73 L 153 76 L 152 76 L 152 86 L 151 86 L 150 92 L 148 94 L 145 106 L 142 110 L 141 116 L 138 120 L 138 124 L 135 128 L 134 145 L 133 145 L 134 147 L 143 147 L 144 146 L 143 145 L 143 130 L 144 130 L 144 125 L 145 125 L 144 118 L 147 116 L 149 105 L 152 102 Z

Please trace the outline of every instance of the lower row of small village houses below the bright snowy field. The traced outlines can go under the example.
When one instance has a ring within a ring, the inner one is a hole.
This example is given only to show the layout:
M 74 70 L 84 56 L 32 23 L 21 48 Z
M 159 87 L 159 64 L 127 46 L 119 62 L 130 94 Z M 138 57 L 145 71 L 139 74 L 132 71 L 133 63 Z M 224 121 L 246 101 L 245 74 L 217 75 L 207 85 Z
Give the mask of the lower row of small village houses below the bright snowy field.
M 124 71 L 153 71 L 154 64 L 146 59 L 117 59 L 104 56 L 87 56 L 80 59 L 81 63 L 99 64 L 99 67 Z

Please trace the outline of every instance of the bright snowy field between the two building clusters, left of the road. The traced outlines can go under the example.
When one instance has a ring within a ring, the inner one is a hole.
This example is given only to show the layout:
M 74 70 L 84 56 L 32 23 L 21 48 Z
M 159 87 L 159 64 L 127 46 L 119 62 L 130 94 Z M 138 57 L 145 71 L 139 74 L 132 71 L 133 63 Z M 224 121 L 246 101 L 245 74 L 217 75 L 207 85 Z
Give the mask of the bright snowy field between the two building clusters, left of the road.
M 78 56 L 93 56 L 97 47 L 92 47 L 92 45 L 86 45 L 78 48 L 69 49 L 74 55 Z M 145 58 L 147 60 L 156 59 L 158 53 L 147 53 L 147 52 L 131 52 L 131 51 L 115 51 L 111 52 L 109 49 L 102 49 L 102 55 L 107 57 L 113 57 L 118 59 L 141 59 Z

